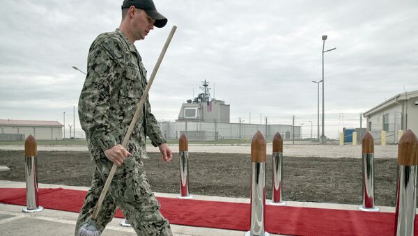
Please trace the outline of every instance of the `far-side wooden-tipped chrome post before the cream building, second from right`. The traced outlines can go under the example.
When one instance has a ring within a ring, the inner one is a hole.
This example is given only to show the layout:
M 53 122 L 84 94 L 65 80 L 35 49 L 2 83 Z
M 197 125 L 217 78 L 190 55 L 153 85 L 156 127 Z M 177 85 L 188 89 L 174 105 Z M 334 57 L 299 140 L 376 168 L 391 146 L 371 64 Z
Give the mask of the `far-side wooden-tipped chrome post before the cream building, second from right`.
M 370 132 L 366 132 L 362 139 L 363 163 L 363 205 L 358 207 L 365 212 L 378 212 L 374 205 L 374 139 Z

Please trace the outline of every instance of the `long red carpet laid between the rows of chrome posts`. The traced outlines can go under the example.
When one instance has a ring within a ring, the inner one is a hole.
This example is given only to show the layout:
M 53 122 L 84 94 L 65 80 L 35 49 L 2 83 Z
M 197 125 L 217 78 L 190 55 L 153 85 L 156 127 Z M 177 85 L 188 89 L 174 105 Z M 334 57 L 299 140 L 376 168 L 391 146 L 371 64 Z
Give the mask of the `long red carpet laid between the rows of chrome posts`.
M 86 191 L 40 189 L 39 204 L 47 209 L 78 212 L 85 195 Z M 162 205 L 162 214 L 173 224 L 249 230 L 249 204 L 177 198 L 158 200 Z M 0 188 L 0 202 L 26 205 L 26 190 Z M 123 216 L 118 212 L 116 217 Z M 269 233 L 286 235 L 384 236 L 394 233 L 394 214 L 268 205 L 265 225 Z

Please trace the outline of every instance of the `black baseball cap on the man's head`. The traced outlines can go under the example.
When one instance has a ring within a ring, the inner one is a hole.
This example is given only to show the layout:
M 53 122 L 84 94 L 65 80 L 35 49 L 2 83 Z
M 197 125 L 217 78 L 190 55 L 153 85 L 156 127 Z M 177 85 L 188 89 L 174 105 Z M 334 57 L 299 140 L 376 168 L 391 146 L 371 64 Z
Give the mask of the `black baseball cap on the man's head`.
M 150 17 L 155 19 L 154 26 L 158 28 L 162 28 L 167 24 L 167 18 L 164 15 L 161 15 L 157 12 L 157 8 L 155 8 L 153 0 L 125 0 L 122 4 L 122 9 L 130 8 L 130 6 L 134 6 L 135 8 L 139 8 L 145 10 L 146 14 Z

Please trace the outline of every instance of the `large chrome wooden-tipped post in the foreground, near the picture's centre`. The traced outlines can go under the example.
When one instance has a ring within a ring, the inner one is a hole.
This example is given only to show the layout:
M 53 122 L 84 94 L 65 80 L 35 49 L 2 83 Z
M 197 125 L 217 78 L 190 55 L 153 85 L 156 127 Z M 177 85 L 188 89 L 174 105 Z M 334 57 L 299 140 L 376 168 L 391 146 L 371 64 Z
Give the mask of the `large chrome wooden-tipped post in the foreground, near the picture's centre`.
M 265 231 L 266 143 L 257 131 L 251 141 L 251 223 L 245 236 L 269 236 Z

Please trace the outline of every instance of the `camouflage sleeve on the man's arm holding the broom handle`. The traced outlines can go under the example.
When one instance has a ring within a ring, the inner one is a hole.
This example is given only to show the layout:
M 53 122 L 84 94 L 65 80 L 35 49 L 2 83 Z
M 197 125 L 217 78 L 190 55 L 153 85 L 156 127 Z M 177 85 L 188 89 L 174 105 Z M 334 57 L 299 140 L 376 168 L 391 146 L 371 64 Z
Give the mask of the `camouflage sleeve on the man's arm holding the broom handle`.
M 110 131 L 107 113 L 116 66 L 116 61 L 104 49 L 103 43 L 93 43 L 88 53 L 86 81 L 79 97 L 79 119 L 91 144 L 102 150 L 117 144 Z

